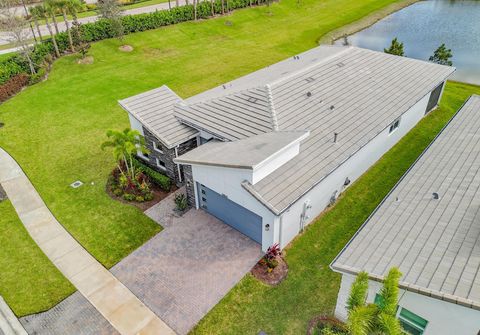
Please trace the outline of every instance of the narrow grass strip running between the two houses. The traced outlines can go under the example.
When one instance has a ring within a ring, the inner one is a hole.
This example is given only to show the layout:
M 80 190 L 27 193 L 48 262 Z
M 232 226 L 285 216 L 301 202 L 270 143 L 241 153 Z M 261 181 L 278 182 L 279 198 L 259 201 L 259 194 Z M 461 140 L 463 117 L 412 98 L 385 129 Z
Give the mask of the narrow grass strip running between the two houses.
M 287 279 L 267 287 L 248 274 L 193 334 L 304 334 L 310 319 L 332 314 L 340 275 L 329 264 L 408 167 L 480 86 L 449 82 L 441 107 L 425 117 L 286 249 Z

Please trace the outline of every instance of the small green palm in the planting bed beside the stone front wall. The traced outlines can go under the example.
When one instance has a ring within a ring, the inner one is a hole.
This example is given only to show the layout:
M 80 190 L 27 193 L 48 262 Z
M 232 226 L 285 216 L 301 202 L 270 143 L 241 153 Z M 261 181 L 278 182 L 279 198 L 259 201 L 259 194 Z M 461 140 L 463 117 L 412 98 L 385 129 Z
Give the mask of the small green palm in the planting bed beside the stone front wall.
M 138 151 L 148 154 L 143 136 L 137 130 L 127 128 L 123 132 L 109 130 L 107 131 L 107 137 L 110 140 L 102 144 L 102 149 L 113 148 L 113 157 L 117 161 L 120 173 L 126 178 L 135 179 L 136 171 L 133 156 Z M 122 166 L 125 166 L 126 171 L 123 170 Z

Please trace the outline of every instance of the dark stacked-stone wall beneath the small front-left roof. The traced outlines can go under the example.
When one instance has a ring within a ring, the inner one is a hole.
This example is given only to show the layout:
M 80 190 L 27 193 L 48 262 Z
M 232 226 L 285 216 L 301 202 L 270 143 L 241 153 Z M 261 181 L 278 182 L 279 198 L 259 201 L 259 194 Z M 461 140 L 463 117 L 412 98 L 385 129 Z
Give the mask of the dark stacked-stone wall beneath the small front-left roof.
M 177 185 L 183 185 L 184 180 L 180 181 L 180 177 L 178 175 L 178 166 L 173 161 L 175 156 L 175 148 L 168 149 L 161 141 L 159 141 L 155 135 L 149 132 L 145 127 L 143 128 L 143 134 L 145 135 L 145 146 L 147 147 L 148 151 L 148 164 L 150 167 L 159 171 L 161 173 L 165 173 L 172 181 Z M 156 143 L 157 148 L 162 150 L 162 153 L 158 152 L 154 149 L 153 143 Z M 178 155 L 183 155 L 187 151 L 192 150 L 193 148 L 197 147 L 197 138 L 192 138 L 182 144 L 180 144 L 177 148 Z M 161 162 L 165 163 L 165 170 L 160 168 L 157 165 L 157 159 Z M 180 166 L 180 170 L 182 171 L 184 166 Z

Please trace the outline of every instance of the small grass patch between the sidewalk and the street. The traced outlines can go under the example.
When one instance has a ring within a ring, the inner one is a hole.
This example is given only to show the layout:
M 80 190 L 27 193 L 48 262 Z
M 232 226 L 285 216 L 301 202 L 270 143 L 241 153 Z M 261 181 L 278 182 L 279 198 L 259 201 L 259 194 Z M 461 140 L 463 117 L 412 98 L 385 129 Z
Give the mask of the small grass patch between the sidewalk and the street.
M 75 288 L 32 240 L 10 201 L 0 202 L 0 213 L 0 295 L 13 312 L 43 311 L 73 293 Z

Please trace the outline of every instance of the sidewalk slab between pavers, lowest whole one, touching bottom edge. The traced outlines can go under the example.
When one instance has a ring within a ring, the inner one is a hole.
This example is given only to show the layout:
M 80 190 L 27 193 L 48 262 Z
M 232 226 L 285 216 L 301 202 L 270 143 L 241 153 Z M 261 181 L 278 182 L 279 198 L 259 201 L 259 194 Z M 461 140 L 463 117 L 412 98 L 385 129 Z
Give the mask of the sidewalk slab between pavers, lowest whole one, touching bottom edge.
M 107 319 L 111 320 L 122 334 L 137 334 L 155 315 L 136 297 L 120 306 Z

